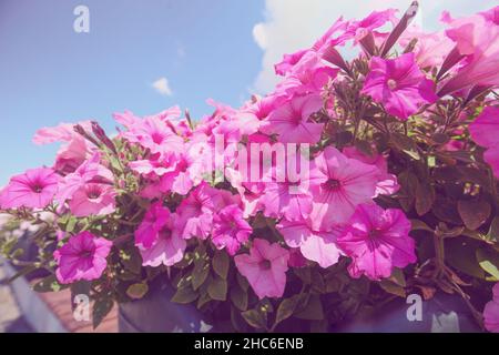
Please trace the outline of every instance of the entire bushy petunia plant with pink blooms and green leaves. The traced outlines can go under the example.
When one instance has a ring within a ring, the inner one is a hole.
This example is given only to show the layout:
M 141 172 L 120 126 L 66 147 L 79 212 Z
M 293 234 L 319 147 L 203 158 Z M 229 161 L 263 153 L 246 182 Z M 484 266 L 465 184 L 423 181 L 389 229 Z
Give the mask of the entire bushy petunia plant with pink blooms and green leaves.
M 47 272 L 37 291 L 85 290 L 95 325 L 163 283 L 218 331 L 328 331 L 444 292 L 497 332 L 499 8 L 431 33 L 417 8 L 338 19 L 238 109 L 39 130 L 54 164 L 0 193 L 39 255 L 0 250 Z

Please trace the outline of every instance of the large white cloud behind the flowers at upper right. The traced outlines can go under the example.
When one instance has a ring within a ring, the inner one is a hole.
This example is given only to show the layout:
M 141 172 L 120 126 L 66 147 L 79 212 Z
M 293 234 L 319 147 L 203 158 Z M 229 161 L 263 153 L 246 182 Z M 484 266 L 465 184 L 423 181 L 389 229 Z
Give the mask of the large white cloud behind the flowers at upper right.
M 254 90 L 266 92 L 277 82 L 274 64 L 284 53 L 310 47 L 339 17 L 361 19 L 374 10 L 399 9 L 404 13 L 410 0 L 265 0 L 265 21 L 255 24 L 253 38 L 264 51 L 262 71 Z M 416 22 L 424 29 L 438 28 L 441 11 L 455 17 L 489 9 L 497 0 L 420 0 Z

